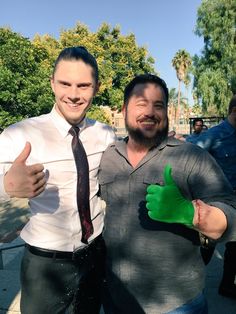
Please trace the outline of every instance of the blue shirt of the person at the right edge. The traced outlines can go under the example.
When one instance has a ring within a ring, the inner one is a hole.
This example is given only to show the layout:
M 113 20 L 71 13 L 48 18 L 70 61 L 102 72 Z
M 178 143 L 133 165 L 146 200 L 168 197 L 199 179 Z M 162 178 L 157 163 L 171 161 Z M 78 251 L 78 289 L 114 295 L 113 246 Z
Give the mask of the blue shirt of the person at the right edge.
M 236 129 L 226 119 L 202 133 L 196 144 L 215 158 L 236 189 Z

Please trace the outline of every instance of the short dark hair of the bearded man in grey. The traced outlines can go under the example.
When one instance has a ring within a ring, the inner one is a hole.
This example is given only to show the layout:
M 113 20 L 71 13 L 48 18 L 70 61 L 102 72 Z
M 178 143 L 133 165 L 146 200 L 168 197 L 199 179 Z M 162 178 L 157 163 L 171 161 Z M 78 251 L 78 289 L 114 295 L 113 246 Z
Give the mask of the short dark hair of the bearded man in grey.
M 166 98 L 166 105 L 168 105 L 168 100 L 169 100 L 169 91 L 168 88 L 166 86 L 166 83 L 164 80 L 162 80 L 159 76 L 157 75 L 153 75 L 153 74 L 140 74 L 137 75 L 134 79 L 132 79 L 132 81 L 130 81 L 128 83 L 128 85 L 125 87 L 125 91 L 124 91 L 124 104 L 125 106 L 127 106 L 130 97 L 132 96 L 132 92 L 134 87 L 137 84 L 145 84 L 145 83 L 154 83 L 160 87 L 162 87 L 164 94 L 165 94 L 165 98 Z

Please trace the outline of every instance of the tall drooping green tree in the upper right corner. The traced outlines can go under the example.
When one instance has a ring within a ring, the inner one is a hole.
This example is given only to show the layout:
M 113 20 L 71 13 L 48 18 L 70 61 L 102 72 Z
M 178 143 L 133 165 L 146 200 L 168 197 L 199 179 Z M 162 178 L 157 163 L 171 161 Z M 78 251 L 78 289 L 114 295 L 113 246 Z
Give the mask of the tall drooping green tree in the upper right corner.
M 195 33 L 204 39 L 201 54 L 194 56 L 194 90 L 203 111 L 226 112 L 236 92 L 235 0 L 203 0 Z

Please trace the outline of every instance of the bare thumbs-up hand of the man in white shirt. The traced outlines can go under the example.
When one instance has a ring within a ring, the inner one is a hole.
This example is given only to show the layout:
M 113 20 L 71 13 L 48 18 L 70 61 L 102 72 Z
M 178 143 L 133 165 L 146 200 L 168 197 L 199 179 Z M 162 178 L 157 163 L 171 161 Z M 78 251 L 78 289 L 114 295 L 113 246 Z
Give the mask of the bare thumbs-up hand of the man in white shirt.
M 45 189 L 44 166 L 42 164 L 26 165 L 30 153 L 31 144 L 26 142 L 24 149 L 5 174 L 4 188 L 10 197 L 32 198 Z

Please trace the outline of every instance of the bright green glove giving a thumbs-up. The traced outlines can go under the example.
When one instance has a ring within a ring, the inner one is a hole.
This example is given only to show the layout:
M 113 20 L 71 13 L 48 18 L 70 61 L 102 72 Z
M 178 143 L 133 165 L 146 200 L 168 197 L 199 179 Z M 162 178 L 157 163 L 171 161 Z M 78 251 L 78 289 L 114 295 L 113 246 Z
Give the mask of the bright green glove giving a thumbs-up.
M 164 186 L 149 185 L 147 188 L 148 216 L 153 220 L 193 227 L 193 204 L 180 193 L 171 176 L 170 165 L 165 166 L 164 182 Z

